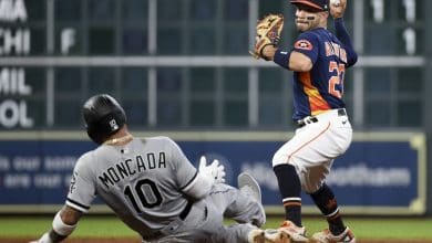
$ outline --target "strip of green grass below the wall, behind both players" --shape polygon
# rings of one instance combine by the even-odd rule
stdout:
[[[278,228],[282,218],[269,218],[264,228]],[[432,219],[416,218],[346,218],[358,239],[429,239]],[[0,237],[38,237],[51,228],[51,216],[0,216]],[[226,223],[230,223],[227,221]],[[309,234],[327,226],[321,218],[306,218]],[[114,216],[83,216],[73,237],[137,237],[136,233]]]

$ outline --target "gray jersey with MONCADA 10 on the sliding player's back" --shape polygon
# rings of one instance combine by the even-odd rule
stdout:
[[[151,235],[178,218],[187,203],[182,189],[196,175],[167,137],[102,145],[78,160],[66,204],[86,212],[97,194],[131,229]]]

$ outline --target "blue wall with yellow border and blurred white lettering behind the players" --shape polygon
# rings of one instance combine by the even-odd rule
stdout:
[[[199,156],[217,158],[236,186],[240,171],[253,173],[263,188],[268,213],[282,213],[277,180],[271,170],[274,152],[292,134],[277,131],[158,131],[140,137],[168,136],[197,165]],[[94,148],[84,133],[25,131],[0,134],[0,213],[54,212],[64,202],[70,175],[79,156]],[[338,158],[328,178],[343,212],[368,215],[429,214],[431,165],[426,137],[421,133],[356,133],[348,151]],[[429,159],[430,160],[430,159]],[[153,161],[145,161],[148,167]],[[429,186],[429,187],[428,187]],[[304,194],[304,212],[317,214]],[[110,210],[96,200],[94,213]]]

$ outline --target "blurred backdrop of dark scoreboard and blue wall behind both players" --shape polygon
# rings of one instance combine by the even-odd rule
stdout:
[[[352,213],[430,215],[432,1],[348,4],[356,135],[329,180]],[[270,161],[295,130],[291,72],[248,54],[257,19],[276,12],[290,46],[288,0],[0,0],[0,212],[63,202],[75,159],[94,148],[80,110],[99,93],[140,135],[171,136],[194,162],[220,158],[230,182],[261,176],[265,204],[280,209]]]

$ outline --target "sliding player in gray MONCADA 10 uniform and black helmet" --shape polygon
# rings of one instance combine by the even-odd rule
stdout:
[[[167,137],[135,138],[126,115],[109,95],[83,106],[89,137],[100,145],[80,157],[65,205],[52,230],[34,243],[61,242],[99,196],[143,242],[281,242],[280,231],[259,229],[266,215],[260,190],[247,173],[239,189],[223,183],[224,167],[202,157],[197,170]],[[224,216],[238,223],[223,224]]]

